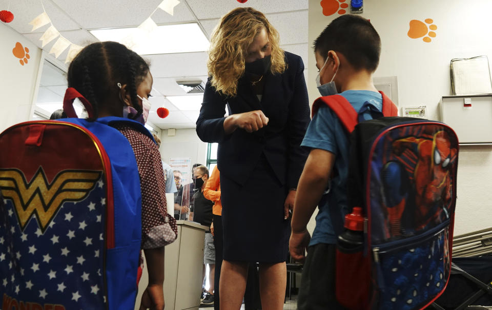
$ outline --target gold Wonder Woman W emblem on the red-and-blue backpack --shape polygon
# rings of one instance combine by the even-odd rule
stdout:
[[[39,167],[28,183],[22,171],[0,169],[0,190],[4,198],[12,200],[21,230],[35,215],[44,232],[60,206],[65,201],[84,200],[101,174],[101,171],[64,170],[49,184],[43,168]]]

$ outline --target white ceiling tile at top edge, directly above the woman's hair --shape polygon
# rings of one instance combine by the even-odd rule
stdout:
[[[308,10],[308,0],[249,0],[246,3],[229,0],[186,0],[198,19],[219,18],[237,7],[253,7],[264,14]]]

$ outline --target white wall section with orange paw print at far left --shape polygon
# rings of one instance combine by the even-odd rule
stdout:
[[[29,49],[30,58],[24,66],[12,53],[17,42]],[[30,119],[41,54],[26,37],[0,23],[0,132]]]

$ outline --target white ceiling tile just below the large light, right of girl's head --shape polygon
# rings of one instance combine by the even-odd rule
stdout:
[[[150,60],[154,78],[207,75],[207,52],[145,55],[144,59]]]

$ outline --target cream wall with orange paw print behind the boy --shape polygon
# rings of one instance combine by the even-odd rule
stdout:
[[[309,3],[309,42],[313,42],[335,13],[324,16],[319,0]],[[400,106],[427,105],[429,118],[439,119],[438,102],[451,95],[452,58],[487,55],[492,60],[492,2],[449,0],[365,0],[363,17],[379,32],[381,60],[375,76],[398,76]],[[407,36],[412,19],[432,18],[436,37],[425,43]],[[312,49],[309,69],[315,69]],[[319,96],[309,70],[311,102]],[[492,120],[491,120],[492,121]],[[492,226],[492,147],[462,147],[458,168],[455,235]]]

